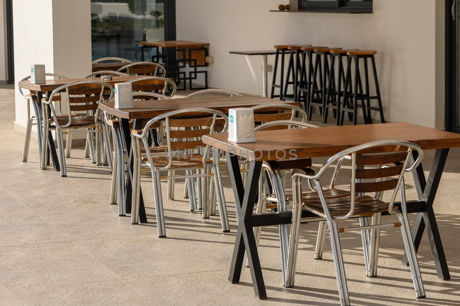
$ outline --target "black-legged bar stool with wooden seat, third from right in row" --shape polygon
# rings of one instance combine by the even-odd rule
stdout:
[[[309,91],[309,102],[308,102],[308,120],[311,120],[311,115],[313,114],[313,107],[319,107],[320,113],[323,114],[324,105],[326,105],[326,90],[328,87],[327,79],[329,76],[329,61],[328,55],[330,56],[330,50],[342,49],[339,47],[336,48],[315,48],[313,51],[316,53],[315,56],[315,66],[313,68],[313,81],[316,81],[316,78],[319,79],[319,87],[315,89],[314,86],[311,87]],[[318,75],[319,74],[319,75]],[[315,98],[316,95],[316,98]]]

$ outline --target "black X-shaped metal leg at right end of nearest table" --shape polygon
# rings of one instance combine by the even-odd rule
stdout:
[[[412,239],[414,240],[415,250],[419,248],[420,240],[426,227],[428,240],[430,241],[431,253],[433,254],[437,275],[443,280],[450,279],[449,267],[447,266],[446,256],[444,255],[443,244],[436,218],[433,211],[433,202],[436,197],[437,187],[443,174],[449,148],[437,149],[433,164],[431,165],[428,179],[425,179],[422,164],[413,172],[417,194],[426,203],[426,212],[419,212],[415,217],[412,226]],[[416,153],[412,159],[416,158]],[[403,264],[408,265],[407,255],[404,253]]]

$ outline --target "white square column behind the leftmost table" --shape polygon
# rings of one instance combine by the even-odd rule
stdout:
[[[27,106],[17,93],[17,82],[30,74],[31,64],[44,64],[47,73],[69,78],[91,72],[90,0],[13,0],[13,31],[14,127],[24,132]]]

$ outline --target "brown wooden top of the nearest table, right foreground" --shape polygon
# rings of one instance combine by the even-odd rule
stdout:
[[[276,158],[276,151],[286,152],[285,158],[332,156],[349,147],[390,139],[414,142],[424,150],[460,147],[460,134],[404,122],[267,130],[256,132],[255,138],[255,142],[233,143],[227,141],[228,134],[217,134],[203,136],[203,142],[259,161],[282,159],[282,153]]]

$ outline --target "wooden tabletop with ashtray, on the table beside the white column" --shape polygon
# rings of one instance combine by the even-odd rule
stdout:
[[[115,83],[123,83],[127,82],[133,79],[138,79],[141,78],[142,75],[128,75],[128,76],[118,76],[118,77],[113,77],[113,79],[109,81],[102,81],[101,78],[83,78],[83,79],[47,79],[45,84],[32,84],[30,81],[20,81],[18,82],[19,87],[28,89],[30,91],[41,91],[41,92],[46,92],[46,91],[53,91],[57,87],[66,85],[69,83],[73,82],[78,82],[78,81],[102,81],[104,83],[110,84],[112,86],[115,86]],[[152,80],[149,81],[151,84]],[[158,80],[158,88],[152,88],[152,90],[161,90],[164,88],[164,81]]]

